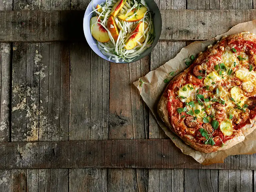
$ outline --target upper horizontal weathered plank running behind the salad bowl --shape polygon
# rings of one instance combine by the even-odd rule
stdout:
[[[83,11],[0,12],[0,42],[85,41],[83,14]],[[256,10],[161,10],[161,15],[160,40],[206,40],[238,23],[253,20]]]

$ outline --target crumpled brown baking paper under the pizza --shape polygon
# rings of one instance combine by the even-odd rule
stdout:
[[[146,76],[141,77],[140,79],[145,82],[145,84],[142,84],[142,86],[140,86],[141,84],[139,80],[133,83],[139,89],[141,97],[152,111],[158,124],[162,127],[165,134],[171,138],[175,145],[180,148],[180,150],[184,154],[192,156],[196,161],[203,165],[209,165],[212,163],[223,163],[224,159],[228,155],[256,153],[256,130],[254,130],[250,135],[247,135],[244,141],[227,150],[212,153],[202,153],[194,150],[190,146],[186,145],[168,127],[166,127],[165,123],[158,116],[157,104],[163,91],[167,86],[167,83],[164,83],[164,79],[168,77],[168,74],[171,71],[175,71],[175,75],[177,75],[185,68],[187,68],[184,59],[188,58],[189,55],[198,55],[199,52],[205,51],[208,45],[215,44],[225,35],[231,35],[246,31],[256,34],[256,20],[246,23],[240,23],[232,27],[228,32],[218,35],[217,37],[210,40],[191,43],[190,45],[182,48],[175,58],[166,62],[164,65],[157,68],[156,70],[149,72]],[[147,85],[146,83],[149,85]]]

